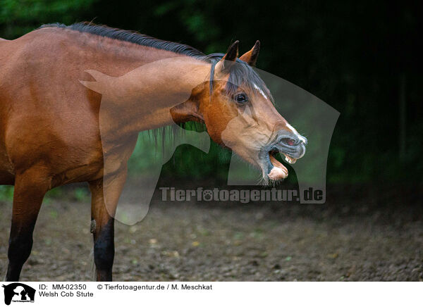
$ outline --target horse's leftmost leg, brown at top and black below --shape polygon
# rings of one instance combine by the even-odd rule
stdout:
[[[49,180],[35,169],[16,175],[13,193],[11,234],[8,246],[8,270],[6,281],[18,281],[23,263],[32,249],[32,232],[49,189]]]

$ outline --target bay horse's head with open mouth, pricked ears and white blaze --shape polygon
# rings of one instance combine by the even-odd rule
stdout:
[[[288,177],[288,163],[305,154],[307,139],[276,111],[274,100],[263,80],[253,70],[260,43],[238,58],[238,41],[226,54],[208,56],[212,70],[208,82],[193,89],[190,99],[171,109],[176,122],[204,123],[210,137],[245,161],[262,170],[264,182]]]

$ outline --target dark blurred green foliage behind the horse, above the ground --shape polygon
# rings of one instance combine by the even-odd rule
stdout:
[[[226,51],[235,39],[245,52],[259,39],[258,68],[341,113],[329,152],[329,183],[422,182],[421,6],[407,1],[0,3],[0,36],[6,39],[42,23],[83,20],[183,42],[206,54]],[[204,163],[213,165],[203,168],[204,175],[221,164],[210,163],[216,151]],[[180,168],[180,174],[189,173]]]

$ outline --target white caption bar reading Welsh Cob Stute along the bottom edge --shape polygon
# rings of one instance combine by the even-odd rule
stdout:
[[[421,282],[1,282],[10,306],[415,306]],[[33,291],[35,290],[35,292]]]

